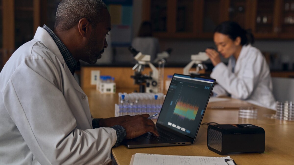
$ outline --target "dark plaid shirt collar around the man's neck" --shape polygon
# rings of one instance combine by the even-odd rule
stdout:
[[[74,75],[76,68],[81,65],[80,62],[74,59],[74,56],[71,54],[71,52],[69,52],[69,49],[66,48],[64,43],[61,42],[61,40],[56,36],[56,34],[48,26],[44,25],[42,28],[44,28],[52,37],[57,47],[59,48],[59,51],[61,55],[63,56],[67,67],[69,67],[71,74]]]

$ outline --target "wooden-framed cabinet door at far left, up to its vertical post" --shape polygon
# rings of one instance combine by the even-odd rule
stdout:
[[[30,41],[40,23],[40,0],[2,0],[1,68],[12,53]]]

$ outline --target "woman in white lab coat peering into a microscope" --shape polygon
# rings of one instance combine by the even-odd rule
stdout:
[[[213,88],[214,95],[231,95],[275,109],[270,69],[260,50],[251,46],[252,33],[226,21],[216,27],[213,40],[217,51],[210,48],[205,51],[214,66],[210,76],[218,83]],[[221,62],[220,55],[229,58],[228,65]]]

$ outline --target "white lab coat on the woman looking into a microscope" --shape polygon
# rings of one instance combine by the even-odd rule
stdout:
[[[232,98],[275,110],[270,69],[257,48],[251,45],[242,47],[234,73],[229,59],[228,66],[219,63],[210,76],[218,83],[213,88],[217,95],[231,94]]]

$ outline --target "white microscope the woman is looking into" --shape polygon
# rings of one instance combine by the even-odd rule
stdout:
[[[205,52],[199,52],[196,55],[191,55],[191,62],[188,63],[188,65],[185,66],[183,70],[184,75],[201,75],[199,73],[199,70],[207,69],[206,65],[203,63],[204,61],[208,60],[209,57]],[[196,64],[196,71],[189,72],[189,70],[193,67],[193,65]]]

